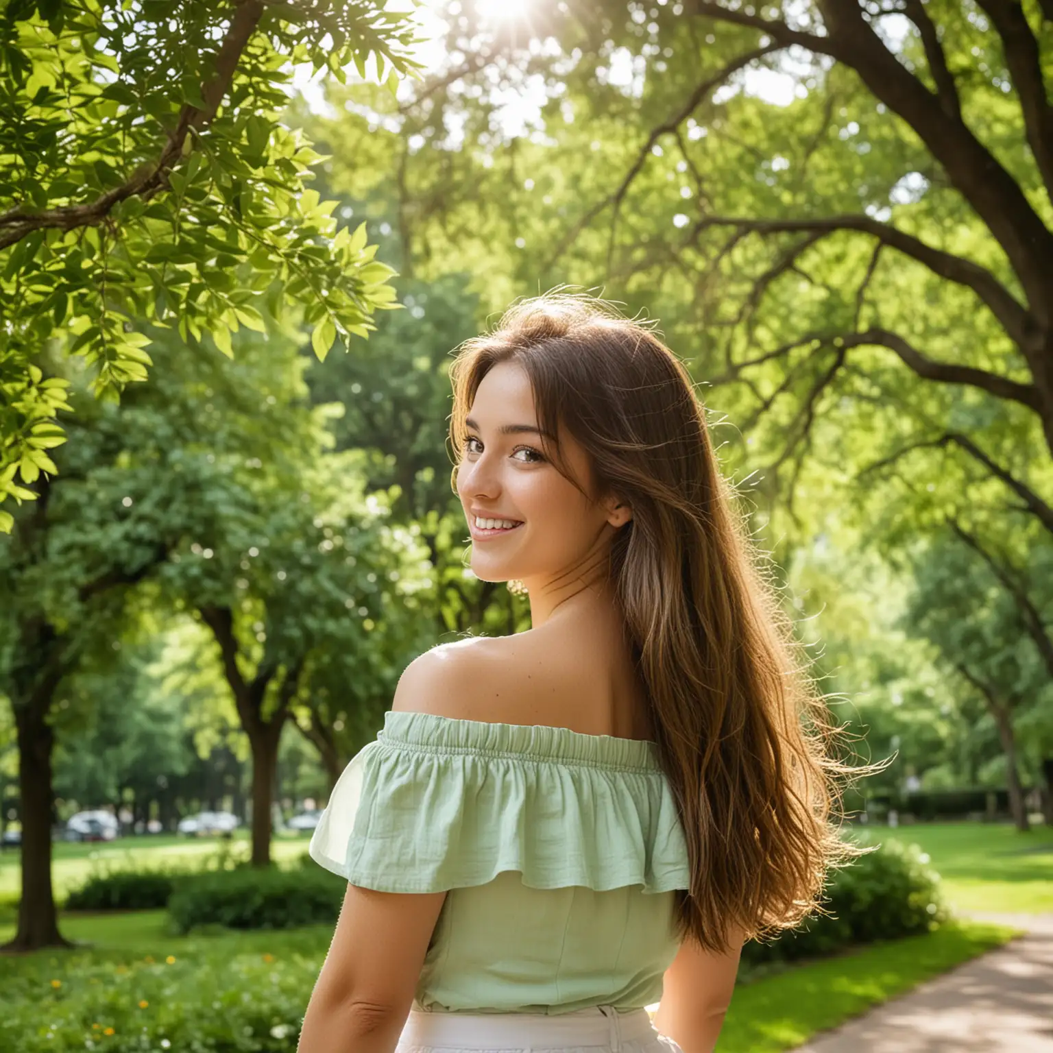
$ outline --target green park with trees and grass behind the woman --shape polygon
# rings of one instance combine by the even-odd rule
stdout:
[[[464,567],[451,351],[564,284],[657,319],[890,759],[720,1049],[1053,910],[1051,21],[0,4],[0,1048],[295,1050],[342,890],[286,820],[415,655],[529,623]]]

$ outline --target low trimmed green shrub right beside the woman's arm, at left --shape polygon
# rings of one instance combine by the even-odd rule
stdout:
[[[207,925],[291,929],[335,922],[345,891],[345,881],[317,867],[238,869],[181,882],[168,899],[168,914],[179,933]]]

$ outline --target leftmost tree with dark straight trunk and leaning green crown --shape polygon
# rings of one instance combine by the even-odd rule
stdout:
[[[120,406],[90,404],[79,441],[59,451],[62,475],[35,482],[38,500],[16,514],[0,548],[0,692],[14,710],[23,822],[13,950],[66,943],[51,883],[56,692],[85,654],[110,647],[134,588],[238,499],[212,451],[244,462],[286,438],[259,399],[285,382],[287,361],[261,344],[231,363],[164,336],[164,375]]]

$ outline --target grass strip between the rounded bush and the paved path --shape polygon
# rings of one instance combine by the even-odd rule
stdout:
[[[780,1053],[1011,939],[962,922],[788,969],[735,989],[718,1053]]]

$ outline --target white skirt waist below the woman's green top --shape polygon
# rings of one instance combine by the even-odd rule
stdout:
[[[683,1053],[645,1009],[593,1006],[571,1013],[435,1013],[411,1010],[395,1053]]]

